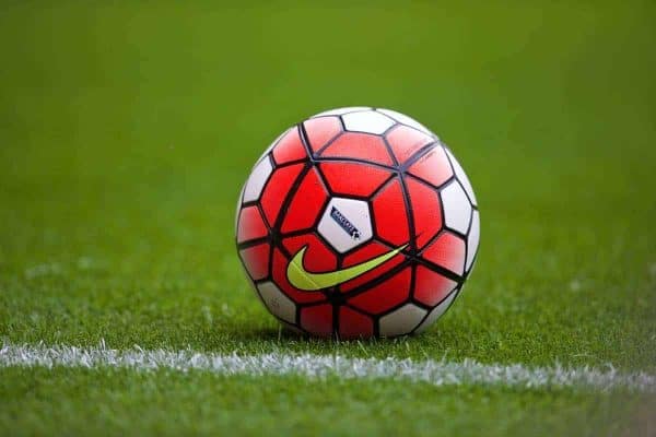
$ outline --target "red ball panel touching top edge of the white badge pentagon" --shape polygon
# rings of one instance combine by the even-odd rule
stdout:
[[[358,163],[320,163],[319,169],[330,189],[338,194],[371,196],[391,172]]]

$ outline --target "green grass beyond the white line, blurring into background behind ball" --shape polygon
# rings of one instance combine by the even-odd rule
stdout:
[[[288,126],[371,105],[433,129],[480,199],[480,261],[457,324],[425,342],[487,361],[535,349],[523,358],[585,362],[583,347],[594,364],[653,366],[653,4],[5,1],[0,11],[10,339],[261,340],[277,324],[233,249],[239,187]]]

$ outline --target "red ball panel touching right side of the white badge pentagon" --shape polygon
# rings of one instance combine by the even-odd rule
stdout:
[[[395,246],[409,241],[408,215],[401,185],[398,179],[389,182],[374,199],[376,234]]]

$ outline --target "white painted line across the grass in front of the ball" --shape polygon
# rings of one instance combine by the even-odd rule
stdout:
[[[420,381],[435,386],[484,385],[656,392],[655,375],[643,371],[622,373],[610,366],[602,370],[590,367],[481,364],[471,359],[458,363],[283,353],[224,355],[191,350],[145,351],[139,346],[116,351],[105,347],[104,343],[98,347],[4,344],[0,350],[0,367],[11,366],[201,370],[220,375],[301,375],[309,378],[336,376],[344,379]]]

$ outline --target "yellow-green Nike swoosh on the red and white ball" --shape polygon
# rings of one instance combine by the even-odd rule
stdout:
[[[364,261],[360,264],[351,265],[347,269],[336,270],[332,272],[313,273],[308,272],[303,267],[303,257],[305,255],[305,250],[307,250],[307,246],[304,246],[296,252],[296,255],[294,255],[294,258],[292,258],[288,264],[288,281],[290,281],[290,284],[296,288],[304,290],[306,292],[315,292],[317,290],[336,286],[358,277],[361,274],[377,268],[384,262],[387,262],[406,247],[408,247],[408,245],[397,247],[396,249],[379,255],[376,258],[372,258],[371,260]]]

